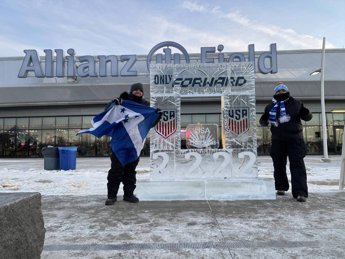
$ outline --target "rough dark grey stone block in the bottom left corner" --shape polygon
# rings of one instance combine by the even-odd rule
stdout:
[[[39,192],[0,193],[1,258],[40,258],[45,233]]]

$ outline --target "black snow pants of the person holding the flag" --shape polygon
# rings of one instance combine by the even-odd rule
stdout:
[[[114,152],[111,152],[111,169],[108,171],[108,198],[115,198],[120,187],[120,183],[124,184],[124,192],[126,195],[132,195],[136,188],[136,167],[139,163],[137,160],[122,166],[121,162],[117,159]]]

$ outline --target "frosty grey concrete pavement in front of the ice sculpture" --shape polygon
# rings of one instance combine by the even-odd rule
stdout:
[[[44,249],[41,258],[344,258],[344,199],[344,191],[310,193],[302,203],[291,194],[276,200],[134,204],[119,196],[105,206],[103,195],[43,196],[46,248],[158,243],[160,249],[65,246]],[[233,242],[233,248],[202,248],[200,242]],[[187,248],[164,249],[169,243]]]

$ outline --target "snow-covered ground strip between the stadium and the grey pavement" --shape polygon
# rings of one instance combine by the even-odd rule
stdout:
[[[332,163],[318,163],[321,156],[306,156],[309,192],[339,190],[341,156],[334,155]],[[141,157],[137,180],[150,176],[150,159]],[[1,159],[0,192],[40,192],[42,195],[107,194],[109,157],[78,158],[77,170],[46,171],[43,159]],[[273,163],[269,156],[258,157],[258,176],[273,180]],[[287,165],[288,179],[291,180]],[[290,190],[289,190],[290,192]],[[123,193],[120,186],[119,195]]]

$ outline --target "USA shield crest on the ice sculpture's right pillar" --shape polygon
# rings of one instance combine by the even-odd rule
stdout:
[[[249,108],[224,108],[225,132],[239,137],[249,130]]]

